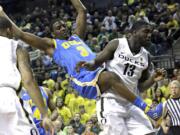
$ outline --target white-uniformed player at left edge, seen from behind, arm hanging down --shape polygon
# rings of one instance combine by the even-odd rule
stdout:
[[[26,61],[27,53],[18,42],[12,40],[12,25],[0,17],[0,134],[1,135],[38,135],[38,132],[25,111],[17,93],[23,86],[43,114],[42,124],[53,134],[53,125],[48,118],[40,90]]]

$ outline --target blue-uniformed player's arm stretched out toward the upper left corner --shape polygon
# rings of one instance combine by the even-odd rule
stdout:
[[[28,32],[23,32],[18,26],[6,15],[6,13],[3,11],[3,8],[0,6],[0,16],[4,16],[7,18],[13,28],[13,34],[15,37],[20,38],[27,44],[31,45],[32,47],[38,48],[40,50],[45,51],[47,54],[51,55],[51,49],[54,48],[54,43],[50,38],[40,38],[36,35],[33,35]]]

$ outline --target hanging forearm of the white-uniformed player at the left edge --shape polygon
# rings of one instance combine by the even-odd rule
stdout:
[[[42,94],[40,92],[40,89],[36,83],[35,80],[27,80],[23,83],[25,89],[27,90],[28,94],[30,95],[33,103],[38,107],[40,110],[40,113],[43,117],[48,116],[48,108],[44,104],[44,100],[42,97]]]

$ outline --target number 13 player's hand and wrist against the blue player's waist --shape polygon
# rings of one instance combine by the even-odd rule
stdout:
[[[80,68],[86,68],[89,71],[95,70],[97,67],[94,63],[94,61],[86,62],[86,61],[80,61],[76,65],[76,71],[79,72]]]

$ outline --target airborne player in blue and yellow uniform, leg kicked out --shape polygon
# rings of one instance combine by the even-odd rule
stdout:
[[[81,38],[83,38],[84,36],[86,28],[86,8],[83,6],[80,0],[71,0],[71,2],[77,10],[78,15],[76,19],[77,27],[74,31],[74,34],[69,38],[67,28],[63,21],[56,21],[55,23],[53,23],[52,34],[54,35],[54,39],[40,38],[33,34],[23,32],[15,24],[13,25],[14,34],[31,46],[44,50],[47,54],[52,56],[56,64],[65,67],[71,77],[71,85],[75,90],[78,91],[81,96],[95,99],[100,96],[100,93],[103,93],[112,88],[113,91],[116,91],[119,95],[126,98],[137,107],[141,108],[149,117],[154,120],[158,119],[162,115],[162,104],[158,105],[155,109],[151,109],[141,98],[135,96],[134,93],[129,91],[122,80],[119,78],[119,76],[114,72],[103,71],[102,68],[97,68],[94,71],[88,71],[85,68],[81,68],[79,73],[76,72],[75,67],[78,62],[91,61],[96,58],[96,54],[93,53],[81,40]],[[6,16],[3,11],[1,11],[0,14]],[[147,32],[145,34],[147,35]],[[115,43],[118,44],[117,41],[110,42],[112,46],[114,46],[113,44]],[[109,51],[112,53],[113,49],[114,48],[112,47],[112,50]],[[100,57],[102,56],[104,60],[107,58],[107,56],[104,57],[104,53],[100,55]],[[147,58],[143,58],[143,62],[145,62],[145,60],[147,60]],[[139,66],[143,66],[141,68],[141,71],[148,67],[146,63],[140,63],[140,61],[136,62],[138,62]],[[102,61],[100,61],[99,63],[102,64]],[[127,70],[125,74],[133,76],[135,67],[132,67],[131,65],[129,66],[130,72],[132,72],[129,73],[129,71]],[[136,74],[138,74],[138,71],[136,71]],[[158,70],[146,84],[151,85],[155,81],[156,77],[162,78],[163,75],[164,71]],[[136,78],[139,79],[140,76],[141,73],[139,73]]]

